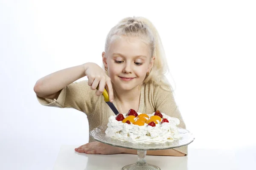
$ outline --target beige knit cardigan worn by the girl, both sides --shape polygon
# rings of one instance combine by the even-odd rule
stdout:
[[[99,125],[107,125],[108,118],[114,115],[113,111],[104,102],[103,96],[96,96],[95,91],[90,89],[87,80],[73,82],[61,90],[58,99],[46,99],[37,96],[41,105],[58,108],[74,108],[84,112],[89,122],[89,130]],[[116,102],[113,102],[116,106]],[[179,109],[175,103],[172,92],[163,90],[160,85],[148,82],[142,85],[140,94],[139,113],[153,113],[156,110],[169,116],[180,119],[180,125],[186,129]],[[89,136],[89,142],[94,139]],[[182,153],[188,154],[187,146],[174,148]]]

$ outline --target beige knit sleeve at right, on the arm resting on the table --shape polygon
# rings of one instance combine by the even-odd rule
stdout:
[[[179,119],[180,124],[177,125],[177,127],[186,129],[186,125],[183,121],[183,118],[180,114],[180,111],[176,105],[175,99],[171,91],[165,91],[159,87],[157,89],[154,101],[156,101],[156,105],[155,105],[156,110],[159,110],[160,112],[163,112],[168,116]],[[187,145],[182,147],[176,147],[174,149],[186,155],[188,154]]]

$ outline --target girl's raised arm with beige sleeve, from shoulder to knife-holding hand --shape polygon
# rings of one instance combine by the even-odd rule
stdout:
[[[74,82],[84,76],[88,77],[88,81]],[[99,90],[93,91],[98,85]],[[88,62],[39,79],[35,84],[34,91],[41,105],[75,108],[88,114],[92,112],[92,103],[96,103],[98,96],[101,96],[104,91],[105,85],[109,90],[109,98],[113,99],[113,89],[108,75],[99,65]]]

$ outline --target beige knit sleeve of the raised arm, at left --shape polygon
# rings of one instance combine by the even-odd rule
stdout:
[[[58,99],[47,99],[37,96],[38,102],[44,106],[57,108],[74,108],[84,113],[93,112],[93,103],[98,96],[90,89],[87,81],[73,82],[61,90]]]

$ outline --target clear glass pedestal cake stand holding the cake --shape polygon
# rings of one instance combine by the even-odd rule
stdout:
[[[90,136],[96,141],[109,144],[116,147],[124,147],[128,149],[137,150],[138,160],[135,164],[128,164],[122,167],[122,170],[160,170],[155,165],[148,164],[145,160],[147,150],[160,150],[160,149],[171,149],[175,147],[181,147],[190,144],[195,139],[188,130],[178,127],[178,131],[181,135],[179,140],[173,142],[165,142],[163,144],[134,144],[131,142],[123,142],[118,139],[113,139],[106,136],[105,130],[107,125],[101,125],[90,131]]]

